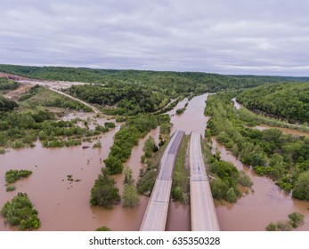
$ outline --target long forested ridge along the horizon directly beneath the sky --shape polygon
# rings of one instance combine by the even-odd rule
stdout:
[[[248,88],[273,82],[259,77],[223,76],[199,72],[159,72],[93,68],[29,67],[0,65],[0,72],[39,79],[89,83],[147,85],[153,91],[172,88],[175,92],[217,92],[226,88]],[[278,80],[275,80],[278,82]]]

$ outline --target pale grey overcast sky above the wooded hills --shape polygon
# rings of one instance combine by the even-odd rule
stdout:
[[[0,63],[309,76],[309,1],[0,0]]]

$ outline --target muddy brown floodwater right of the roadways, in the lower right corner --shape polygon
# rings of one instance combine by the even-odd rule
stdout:
[[[264,230],[270,222],[287,220],[289,213],[293,212],[305,215],[305,224],[298,230],[309,230],[309,202],[291,198],[272,180],[259,177],[248,167],[244,167],[240,160],[215,140],[213,144],[220,151],[223,160],[232,162],[239,170],[245,170],[254,182],[254,193],[242,197],[236,205],[216,204],[222,230]]]

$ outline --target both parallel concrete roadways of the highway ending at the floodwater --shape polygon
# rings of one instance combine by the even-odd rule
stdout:
[[[182,139],[183,132],[176,131],[161,158],[159,175],[142,220],[141,231],[164,231],[166,228],[175,159]],[[220,230],[198,133],[191,133],[190,189],[192,231]]]

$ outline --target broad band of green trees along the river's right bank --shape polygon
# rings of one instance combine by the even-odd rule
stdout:
[[[221,92],[209,96],[206,114],[207,137],[232,151],[244,165],[266,175],[293,197],[309,200],[309,139],[292,136],[277,129],[259,131],[248,127],[244,113],[232,106],[236,92]]]

